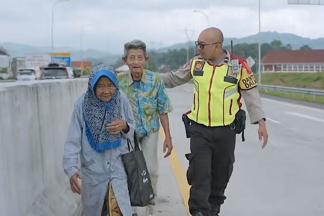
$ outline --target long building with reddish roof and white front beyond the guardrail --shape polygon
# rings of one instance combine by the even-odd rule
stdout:
[[[262,58],[263,72],[322,72],[324,49],[269,51]]]

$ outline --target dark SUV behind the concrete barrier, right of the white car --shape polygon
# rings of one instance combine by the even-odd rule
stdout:
[[[47,67],[41,68],[41,80],[72,78],[74,78],[74,73],[71,67],[65,67],[64,65],[57,63],[50,63]]]

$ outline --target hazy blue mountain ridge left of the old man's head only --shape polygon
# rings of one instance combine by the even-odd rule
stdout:
[[[12,57],[24,57],[25,53],[50,53],[51,47],[38,47],[30,46],[18,43],[0,43],[0,47],[3,47]],[[72,55],[72,61],[79,61],[81,59],[80,49],[72,47],[55,47],[54,52],[70,52]],[[118,59],[119,55],[114,55],[100,50],[87,49],[82,52],[83,60],[92,61],[95,63],[108,63],[113,64]]]

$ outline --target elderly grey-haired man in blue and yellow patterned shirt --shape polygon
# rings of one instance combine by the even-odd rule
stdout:
[[[155,72],[145,70],[149,61],[146,44],[133,40],[125,44],[123,61],[129,71],[119,76],[120,88],[128,97],[136,121],[136,135],[140,142],[154,193],[158,183],[158,142],[160,122],[164,130],[164,158],[172,151],[171,134],[167,113],[172,111],[171,103],[165,92],[164,83]],[[167,151],[166,151],[167,150]],[[147,215],[154,214],[154,202],[147,207]]]

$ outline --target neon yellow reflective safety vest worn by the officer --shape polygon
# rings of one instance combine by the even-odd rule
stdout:
[[[188,117],[206,126],[231,124],[239,110],[241,73],[234,74],[231,66],[210,65],[200,58],[193,59],[190,73],[194,80],[194,96]]]

